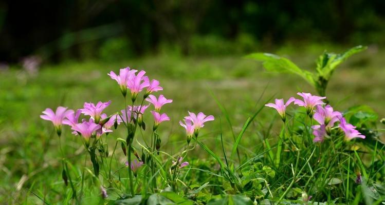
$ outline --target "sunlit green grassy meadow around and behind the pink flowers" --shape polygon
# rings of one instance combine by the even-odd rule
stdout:
[[[316,67],[315,60],[325,49],[342,52],[346,48],[287,46],[270,52],[310,70]],[[385,50],[369,46],[352,56],[334,72],[326,90],[329,104],[340,112],[349,113],[354,111],[349,108],[365,105],[357,112],[363,113],[362,119],[368,121],[359,123],[370,125],[365,128],[376,136],[349,142],[336,137],[325,146],[300,139],[301,136],[313,138],[306,123],[315,124],[306,121],[304,110],[293,105],[288,108],[291,128],[286,130],[278,113],[264,106],[275,98],[300,98],[297,92],[318,95],[317,91],[298,76],[267,72],[260,62],[244,55],[186,57],[161,53],[118,62],[66,61],[44,65],[37,72],[17,67],[1,70],[0,201],[4,204],[380,204],[385,193],[381,143],[384,125],[380,123],[385,116],[384,55]],[[58,138],[53,126],[40,118],[46,108],[64,106],[76,110],[84,102],[111,100],[105,112],[120,111],[125,105],[119,85],[107,73],[118,73],[127,66],[145,70],[151,79],[160,81],[163,91],[154,95],[173,99],[162,108],[170,121],[162,122],[157,131],[162,153],[148,152],[155,167],[163,171],[149,178],[154,175],[149,171],[151,166],[140,168],[134,197],[133,190],[127,188],[130,187],[129,169],[124,165],[127,157],[120,146],[122,141],[117,141],[127,137],[122,124],[102,136],[108,146],[106,159],[113,160],[109,165],[104,161],[97,176],[81,137],[71,135],[70,128],[63,127]],[[197,139],[193,137],[191,150],[186,148],[186,131],[178,123],[188,115],[187,111],[215,117],[200,129]],[[305,122],[297,125],[294,119]],[[139,158],[143,147],[138,143],[144,144],[152,135],[151,114],[144,115],[143,120],[147,129],[138,131],[135,135],[138,142],[133,142]],[[239,136],[242,138],[235,142]],[[335,149],[327,149],[326,145]],[[186,149],[189,151],[184,152]],[[180,153],[186,154],[189,166],[175,168],[179,166],[176,163],[171,168]],[[62,179],[63,167],[67,186]],[[361,181],[356,183],[358,178]],[[156,181],[157,188],[151,185],[151,180]],[[100,186],[108,197],[102,196]]]

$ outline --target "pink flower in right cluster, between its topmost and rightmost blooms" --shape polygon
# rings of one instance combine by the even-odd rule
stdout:
[[[325,108],[318,105],[313,116],[319,124],[325,124],[326,128],[332,128],[340,117],[342,117],[342,114],[338,111],[333,111],[333,108],[330,105],[325,106]]]

